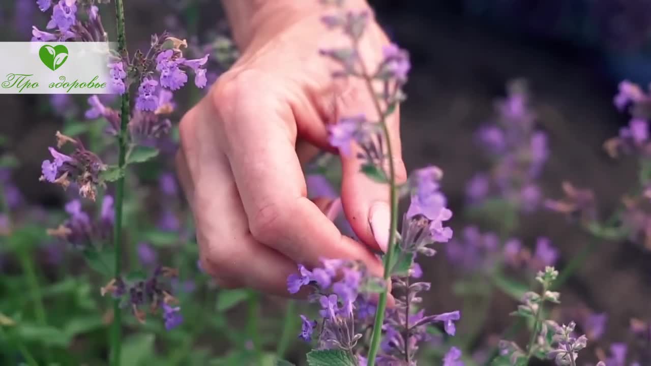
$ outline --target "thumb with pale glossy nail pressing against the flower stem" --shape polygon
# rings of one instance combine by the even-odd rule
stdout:
[[[368,116],[378,115],[374,109],[366,109]],[[400,144],[399,115],[396,110],[386,121],[389,129],[389,143],[382,141],[378,144],[374,137],[375,149],[380,150],[385,158],[383,169],[389,173],[389,157],[387,148],[391,147],[396,184],[406,181],[407,174],[402,162]],[[370,179],[362,173],[361,167],[365,160],[358,154],[367,147],[352,147],[349,154],[341,152],[342,160],[342,205],[344,214],[359,239],[373,249],[387,251],[389,244],[389,227],[391,225],[391,204],[389,203],[389,184]]]

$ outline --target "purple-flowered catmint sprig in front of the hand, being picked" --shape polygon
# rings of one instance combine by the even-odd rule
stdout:
[[[322,267],[312,270],[299,266],[299,273],[288,278],[290,293],[311,287],[309,298],[322,308],[318,321],[301,316],[303,326],[299,337],[309,341],[314,330],[320,328],[316,350],[308,354],[308,362],[314,365],[326,359],[331,365],[416,365],[419,343],[431,338],[427,328],[437,324],[448,335],[454,335],[454,322],[460,319],[459,311],[439,315],[417,311],[417,304],[422,301],[418,294],[429,290],[430,284],[411,280],[422,275],[413,262],[415,257],[434,255],[436,251],[430,245],[448,242],[452,237],[452,229],[445,226],[452,212],[446,208],[447,200],[439,191],[443,172],[438,167],[427,167],[411,175],[406,186],[411,205],[404,214],[402,232],[398,235],[398,185],[386,119],[404,100],[402,86],[410,68],[408,53],[391,44],[383,49],[384,59],[380,64],[369,68],[358,49],[369,14],[344,12],[342,1],[322,3],[335,5],[338,10],[322,18],[326,27],[342,31],[350,39],[351,46],[324,49],[321,54],[339,64],[340,70],[333,77],[357,78],[365,82],[377,112],[376,116],[342,117],[337,124],[329,126],[330,143],[342,154],[349,155],[355,143],[360,150],[357,158],[362,162],[363,173],[389,184],[391,231],[383,278],[374,278],[359,270],[357,265],[338,259],[323,260]],[[380,83],[381,89],[376,89],[374,83]],[[393,309],[386,308],[388,281],[396,292]],[[380,293],[377,303],[371,301],[374,292]],[[362,342],[368,346],[360,345]],[[458,349],[450,352],[446,365],[458,364]]]

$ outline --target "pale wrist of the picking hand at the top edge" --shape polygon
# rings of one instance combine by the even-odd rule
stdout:
[[[318,0],[222,0],[233,38],[244,51],[254,38],[273,36],[303,18],[324,14]],[[346,0],[353,10],[368,8],[367,0]]]

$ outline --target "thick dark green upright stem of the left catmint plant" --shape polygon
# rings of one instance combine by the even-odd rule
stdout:
[[[118,53],[121,57],[128,57],[126,51],[126,32],[124,30],[124,4],[123,0],[115,0],[115,14],[118,33]],[[129,122],[129,90],[122,94],[122,107],[120,110],[120,131],[118,133],[118,166],[124,170],[127,148],[127,124]],[[124,171],[126,175],[126,171]],[[113,231],[113,246],[115,249],[115,277],[120,277],[122,269],[122,203],[124,201],[124,175],[122,175],[115,186],[115,223]],[[120,353],[122,347],[122,313],[120,301],[113,302],[113,329],[111,341],[113,345],[113,365],[120,365]]]

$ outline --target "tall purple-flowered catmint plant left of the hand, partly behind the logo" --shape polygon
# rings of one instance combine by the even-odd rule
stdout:
[[[98,5],[108,2],[38,0],[41,11],[51,11],[51,19],[46,25],[48,31],[33,27],[32,40],[107,42],[109,36],[104,31]],[[117,143],[117,164],[105,163],[97,154],[85,148],[81,140],[57,132],[57,148],[68,145],[73,150],[66,154],[63,150],[50,147],[49,153],[52,157],[42,163],[41,180],[59,184],[64,189],[76,186],[81,197],[92,201],[98,196],[98,189],[104,188],[109,182],[115,182],[115,199],[104,195],[100,218],[92,221],[90,216],[81,210],[81,203],[72,201],[66,206],[70,219],[49,233],[83,249],[89,263],[94,263],[94,268],[100,268],[100,272],[113,276],[107,285],[102,287],[101,292],[102,296],[111,294],[115,299],[111,359],[113,364],[118,365],[122,308],[130,309],[140,322],[145,322],[145,307],[148,307],[151,313],[159,313],[162,310],[167,329],[172,329],[182,322],[180,307],[171,294],[170,286],[161,286],[162,279],[176,277],[176,270],[157,266],[149,277],[141,274],[122,274],[124,180],[128,165],[146,162],[158,154],[156,139],[171,130],[169,115],[175,107],[173,92],[188,83],[189,74],[193,75],[193,82],[197,87],[206,87],[204,66],[209,55],[197,59],[186,58],[186,40],[174,38],[167,33],[153,35],[150,48],[146,52],[129,53],[126,49],[123,1],[115,0],[115,8],[118,49],[111,55],[107,67],[111,76],[109,87],[121,96],[120,106],[113,109],[99,96],[90,96],[85,117],[107,121],[107,133],[113,135]],[[132,86],[137,87],[135,94],[130,92]],[[133,100],[132,95],[135,95]],[[130,106],[134,108],[131,109]],[[104,258],[102,255],[96,254],[103,249],[103,246],[96,242],[111,239],[113,247],[110,253],[113,260],[112,263],[106,263],[101,260]],[[109,270],[113,273],[109,274]]]

